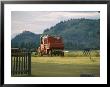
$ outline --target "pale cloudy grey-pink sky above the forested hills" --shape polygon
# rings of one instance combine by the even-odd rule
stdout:
[[[11,38],[23,31],[31,31],[41,34],[60,21],[69,19],[100,19],[100,13],[96,11],[12,11],[11,12]]]

